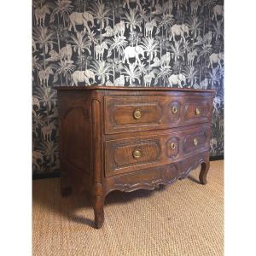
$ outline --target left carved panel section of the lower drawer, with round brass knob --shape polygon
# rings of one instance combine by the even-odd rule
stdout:
[[[160,138],[110,141],[105,147],[106,176],[131,172],[160,160]]]

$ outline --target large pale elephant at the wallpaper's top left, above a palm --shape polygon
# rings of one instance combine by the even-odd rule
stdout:
[[[93,16],[89,12],[84,12],[84,13],[73,12],[71,15],[69,15],[69,20],[70,20],[70,26],[68,27],[69,31],[71,31],[73,26],[73,30],[75,32],[78,32],[76,29],[76,25],[84,25],[87,31],[90,32],[88,21],[90,21],[91,26],[94,26]]]

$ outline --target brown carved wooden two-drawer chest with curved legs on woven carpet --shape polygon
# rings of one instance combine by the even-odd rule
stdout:
[[[56,87],[61,193],[86,190],[96,228],[118,189],[154,189],[201,165],[207,183],[213,90]]]

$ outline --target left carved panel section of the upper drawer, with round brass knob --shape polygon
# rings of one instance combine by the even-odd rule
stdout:
[[[160,97],[106,96],[105,132],[148,130],[163,121]]]

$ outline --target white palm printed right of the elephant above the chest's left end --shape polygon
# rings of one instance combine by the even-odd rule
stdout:
[[[109,64],[107,61],[95,60],[91,63],[91,70],[101,81],[101,84],[105,84],[111,75],[111,64]]]

